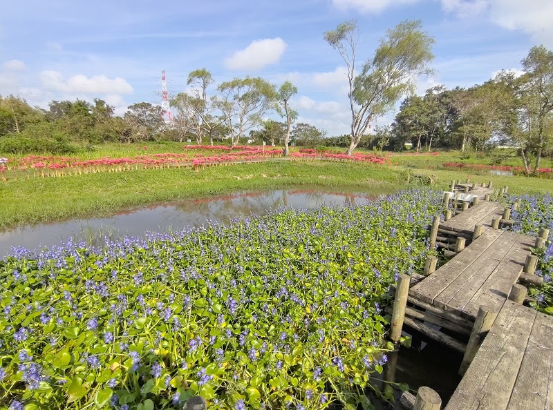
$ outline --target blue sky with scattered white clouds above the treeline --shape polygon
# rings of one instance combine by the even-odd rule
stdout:
[[[351,19],[358,64],[389,28],[422,22],[435,38],[435,74],[416,79],[421,95],[520,70],[532,46],[553,49],[553,0],[10,1],[0,14],[0,95],[43,108],[97,97],[121,115],[140,101],[160,104],[161,70],[176,95],[191,70],[207,68],[216,84],[246,75],[292,81],[298,121],[340,135],[350,122],[347,79],[323,33]]]

